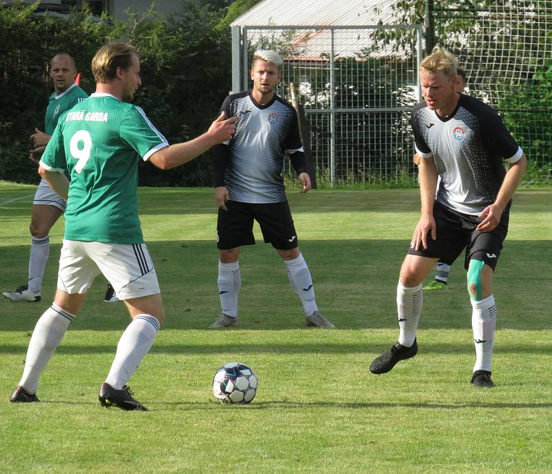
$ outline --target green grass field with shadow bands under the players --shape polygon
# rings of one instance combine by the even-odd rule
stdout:
[[[0,289],[26,281],[33,186],[0,183]],[[139,190],[144,235],[167,320],[130,386],[148,413],[97,401],[128,324],[102,302],[99,277],[41,379],[40,404],[10,404],[30,333],[55,292],[63,219],[38,304],[0,300],[0,473],[552,472],[552,190],[521,190],[495,275],[493,380],[469,384],[475,351],[462,263],[426,293],[420,353],[368,371],[397,340],[395,290],[419,215],[417,190],[288,193],[320,310],[309,329],[284,265],[242,250],[240,326],[208,330],[219,310],[212,190]],[[248,406],[210,393],[242,361],[259,391]]]

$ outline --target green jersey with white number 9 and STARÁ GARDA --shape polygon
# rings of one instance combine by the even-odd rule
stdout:
[[[92,94],[59,119],[40,164],[70,173],[68,240],[141,244],[138,162],[168,146],[141,108]]]

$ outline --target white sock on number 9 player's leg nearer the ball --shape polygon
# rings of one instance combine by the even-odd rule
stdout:
[[[127,326],[117,344],[117,353],[111,364],[106,383],[121,390],[135,373],[149,352],[159,331],[159,319],[150,315],[137,315]]]

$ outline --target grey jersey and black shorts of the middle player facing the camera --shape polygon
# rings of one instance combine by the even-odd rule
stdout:
[[[286,153],[298,175],[305,171],[295,109],[277,95],[261,105],[246,91],[226,97],[221,111],[241,119],[233,139],[213,149],[215,187],[226,186],[229,196],[228,211],[219,210],[218,248],[255,244],[253,219],[265,242],[297,247],[282,177]]]

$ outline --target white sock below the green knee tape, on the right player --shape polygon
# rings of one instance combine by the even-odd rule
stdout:
[[[491,357],[495,342],[496,306],[493,295],[480,301],[471,300],[471,327],[475,341],[473,371],[491,372]]]

